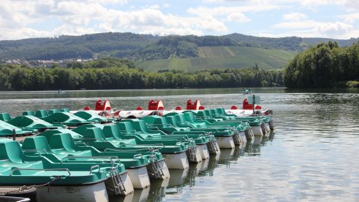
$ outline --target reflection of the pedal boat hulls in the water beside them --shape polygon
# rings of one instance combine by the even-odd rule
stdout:
[[[273,137],[274,133],[271,133],[267,138],[257,138],[257,141],[249,141],[246,145],[237,145],[233,149],[222,149],[220,154],[211,155],[209,159],[200,163],[191,163],[185,170],[169,170],[171,177],[166,182],[151,181],[148,201],[163,201],[166,199],[166,195],[184,194],[184,189],[196,186],[197,183],[204,183],[206,178],[215,176],[217,168],[221,166],[231,168],[231,163],[240,163],[242,156],[260,155],[260,148],[265,146],[267,141],[273,141]],[[133,197],[133,200],[137,201],[137,199]]]

